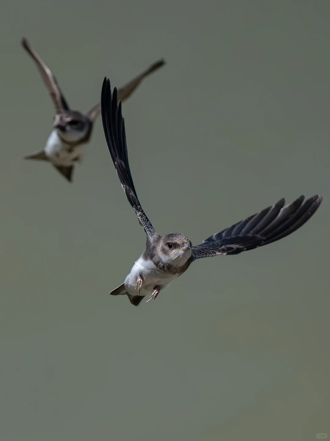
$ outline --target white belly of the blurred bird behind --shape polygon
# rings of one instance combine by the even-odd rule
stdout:
[[[44,152],[53,164],[70,167],[77,162],[77,158],[81,158],[84,144],[75,146],[72,151],[68,151],[69,147],[68,144],[62,142],[57,131],[53,130],[47,139]]]

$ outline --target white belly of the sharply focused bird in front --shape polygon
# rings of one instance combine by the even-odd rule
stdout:
[[[140,295],[147,295],[154,291],[155,286],[159,286],[164,289],[170,284],[177,275],[164,273],[151,261],[145,261],[142,257],[135,262],[131,272],[125,279],[125,289],[132,295],[138,295],[138,291],[135,289],[136,280],[139,275],[143,278],[142,289]]]

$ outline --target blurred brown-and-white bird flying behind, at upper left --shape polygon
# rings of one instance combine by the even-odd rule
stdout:
[[[68,181],[72,181],[74,164],[81,162],[82,150],[84,144],[89,142],[93,122],[99,115],[100,104],[95,105],[91,110],[84,114],[77,110],[70,110],[69,105],[63,96],[55,76],[41,60],[26,38],[22,39],[22,46],[37,64],[41,78],[44,81],[48,92],[55,105],[54,130],[49,135],[46,146],[43,150],[32,155],[26,156],[26,159],[37,159],[49,161]],[[165,64],[164,60],[159,60],[152,64],[148,69],[128,82],[118,90],[118,100],[124,101],[139,86],[143,78],[159,69]]]

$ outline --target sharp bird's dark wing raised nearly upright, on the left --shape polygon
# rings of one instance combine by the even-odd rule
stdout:
[[[114,93],[111,95],[110,81],[106,78],[104,78],[101,92],[101,114],[106,144],[126,198],[134,208],[147,235],[150,238],[157,236],[136,195],[128,164],[125,123],[121,114],[121,102],[117,103],[116,88],[114,88]]]

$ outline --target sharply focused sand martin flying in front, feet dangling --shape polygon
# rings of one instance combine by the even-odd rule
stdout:
[[[286,200],[283,198],[273,206],[213,234],[200,245],[191,245],[189,238],[182,233],[160,236],[144,213],[134,188],[128,164],[121,102],[118,105],[117,98],[116,88],[111,95],[110,81],[105,78],[101,114],[106,144],[126,198],[147,234],[147,245],[125,282],[110,294],[126,294],[135,306],[148,294],[151,295],[147,302],[154,300],[162,289],[183,274],[195,260],[221,254],[239,254],[275,242],[301,227],[319,208],[323,198],[318,194],[305,202],[304,196],[300,196],[288,205],[285,205]]]

